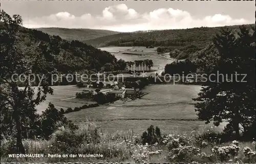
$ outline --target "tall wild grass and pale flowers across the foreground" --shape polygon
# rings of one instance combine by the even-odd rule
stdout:
[[[141,134],[133,131],[110,134],[98,129],[93,122],[85,121],[75,131],[60,126],[50,140],[40,136],[24,140],[27,153],[43,153],[44,158],[8,158],[9,153],[16,153],[15,140],[4,139],[1,162],[255,162],[255,142],[207,140],[214,134],[212,130],[162,133],[161,142],[153,145],[143,145]],[[56,158],[48,154],[102,154],[103,157]]]

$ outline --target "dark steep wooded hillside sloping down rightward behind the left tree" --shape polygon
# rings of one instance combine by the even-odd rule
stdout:
[[[4,24],[1,24],[0,27],[2,34],[6,27]],[[8,38],[1,36],[1,43],[4,42],[8,44]],[[97,69],[99,71],[104,64],[111,63],[115,66],[117,62],[115,56],[109,52],[100,51],[80,41],[70,42],[59,36],[51,36],[38,30],[20,27],[17,51],[25,54],[32,61],[39,42],[47,45],[48,53],[42,55],[41,60],[46,61],[44,67],[50,70],[56,68],[62,73],[81,69]]]

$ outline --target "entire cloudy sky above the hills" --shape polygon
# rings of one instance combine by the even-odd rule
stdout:
[[[254,24],[255,2],[1,1],[27,28],[61,27],[132,32]]]

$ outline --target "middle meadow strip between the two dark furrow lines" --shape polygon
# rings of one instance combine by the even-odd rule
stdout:
[[[92,121],[110,120],[196,120],[193,105],[158,104],[150,106],[108,106],[102,105],[78,112],[68,113],[67,117],[75,122],[88,118]]]

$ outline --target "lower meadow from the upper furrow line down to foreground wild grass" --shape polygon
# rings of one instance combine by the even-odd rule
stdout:
[[[66,114],[76,124],[82,124],[86,119],[93,121],[102,131],[109,133],[133,130],[142,134],[150,125],[159,126],[166,133],[203,131],[214,127],[198,121],[193,105],[169,104],[140,107],[99,106]],[[222,130],[223,126],[216,128]]]

